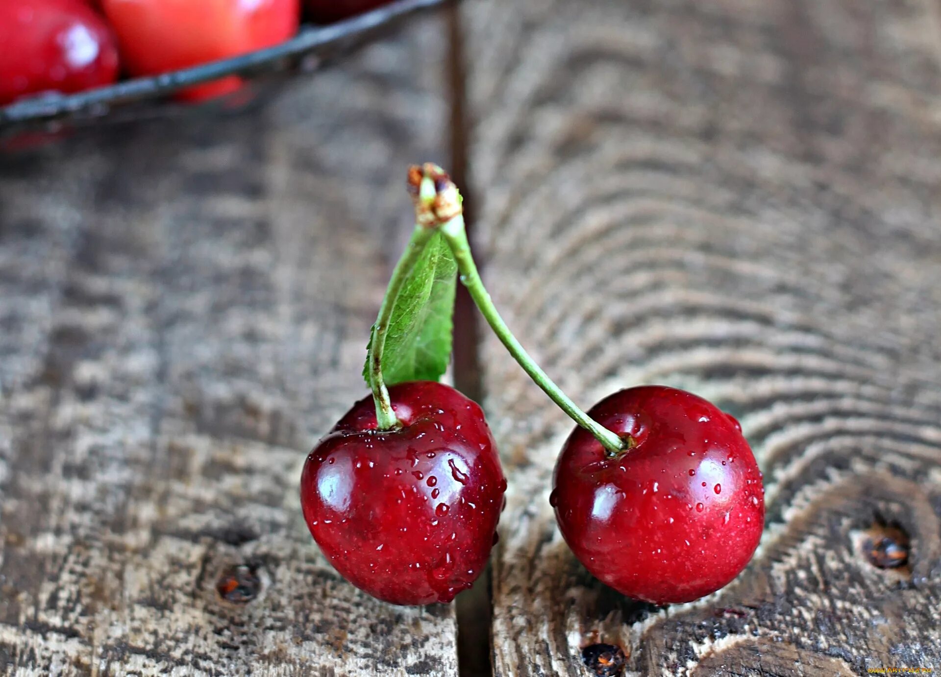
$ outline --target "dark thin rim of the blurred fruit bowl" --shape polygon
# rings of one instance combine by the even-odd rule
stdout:
[[[443,5],[447,0],[396,0],[342,22],[301,26],[297,35],[275,47],[213,61],[181,71],[124,80],[110,87],[77,94],[46,93],[0,107],[0,140],[54,137],[72,126],[156,118],[193,108],[224,110],[241,107],[258,87],[240,90],[212,102],[175,102],[170,95],[228,75],[240,75],[249,87],[270,87],[297,73],[317,70],[337,52],[375,38],[378,29],[412,12]]]

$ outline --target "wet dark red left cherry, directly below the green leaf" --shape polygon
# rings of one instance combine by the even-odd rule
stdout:
[[[377,431],[357,402],[311,451],[300,480],[311,535],[350,583],[397,605],[450,602],[496,540],[506,480],[484,413],[430,381],[389,389],[402,424]]]

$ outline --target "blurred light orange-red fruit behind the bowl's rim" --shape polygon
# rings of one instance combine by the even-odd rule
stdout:
[[[102,0],[132,75],[177,71],[272,47],[297,32],[299,0]],[[201,101],[241,87],[237,76],[190,87]]]

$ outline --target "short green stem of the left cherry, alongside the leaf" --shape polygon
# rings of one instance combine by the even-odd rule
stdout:
[[[373,332],[369,341],[369,386],[373,390],[375,420],[379,430],[391,430],[399,425],[399,420],[395,417],[395,412],[392,411],[389,390],[382,380],[382,353],[386,349],[386,336],[389,333],[392,309],[395,307],[395,301],[399,296],[399,291],[402,290],[402,285],[405,284],[408,274],[415,267],[419,257],[422,256],[424,245],[428,244],[434,234],[434,228],[425,228],[424,226],[416,226],[412,231],[405,253],[403,253],[399,262],[395,264],[395,269],[392,271],[389,288],[382,299],[379,316],[373,325]]]

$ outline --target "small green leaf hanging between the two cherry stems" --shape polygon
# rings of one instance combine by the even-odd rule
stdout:
[[[451,248],[436,233],[425,244],[392,308],[381,365],[387,386],[406,381],[437,381],[448,368],[456,278],[457,263]],[[368,357],[363,378],[368,385]]]

